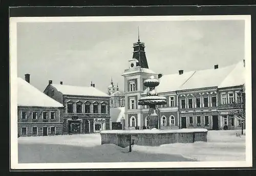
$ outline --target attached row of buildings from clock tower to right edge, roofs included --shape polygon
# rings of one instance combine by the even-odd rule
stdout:
[[[134,43],[133,59],[123,73],[125,95],[125,129],[144,129],[148,107],[138,105],[146,96],[143,81],[150,76],[160,81],[156,91],[165,96],[167,104],[157,107],[161,129],[207,128],[239,129],[242,122],[234,114],[234,103],[243,103],[245,61],[214,68],[162,75],[148,69],[144,43]],[[241,100],[240,100],[241,99]],[[244,126],[245,127],[245,126]]]

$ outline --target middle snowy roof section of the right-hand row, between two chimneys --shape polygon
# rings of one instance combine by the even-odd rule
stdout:
[[[204,87],[219,86],[227,75],[234,69],[235,64],[219,69],[196,71],[179,90],[200,89]]]

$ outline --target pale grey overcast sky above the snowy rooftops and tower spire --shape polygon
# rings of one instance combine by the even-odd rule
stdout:
[[[18,77],[44,91],[53,83],[95,86],[106,92],[111,77],[123,90],[133,43],[145,42],[148,67],[172,74],[219,68],[244,59],[244,21],[146,21],[18,23]],[[200,81],[200,80],[199,80]]]

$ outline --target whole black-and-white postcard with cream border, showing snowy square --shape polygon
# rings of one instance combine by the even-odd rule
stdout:
[[[250,164],[247,18],[151,18],[15,21],[17,168]]]

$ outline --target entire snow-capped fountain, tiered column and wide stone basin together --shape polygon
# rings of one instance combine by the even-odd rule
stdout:
[[[138,100],[138,104],[150,107],[147,116],[147,123],[150,129],[104,130],[100,132],[101,144],[115,144],[120,147],[130,146],[131,151],[132,143],[142,146],[160,146],[172,143],[207,142],[207,129],[204,128],[161,130],[159,113],[156,113],[156,105],[166,104],[166,98],[158,96],[155,91],[159,81],[154,76],[144,80],[143,84],[148,87],[149,91],[145,97],[141,97]]]

